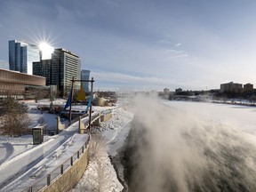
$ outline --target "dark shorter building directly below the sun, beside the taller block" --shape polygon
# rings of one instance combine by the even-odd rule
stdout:
[[[44,76],[46,85],[52,84],[52,60],[40,60],[33,62],[33,75]]]

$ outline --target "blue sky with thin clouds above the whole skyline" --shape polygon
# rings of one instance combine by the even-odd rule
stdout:
[[[161,91],[256,84],[254,0],[3,0],[8,40],[75,52],[96,89]]]

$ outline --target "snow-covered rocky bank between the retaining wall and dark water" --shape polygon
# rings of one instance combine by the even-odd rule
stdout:
[[[101,133],[108,144],[108,148],[101,152],[100,158],[90,160],[83,178],[77,183],[76,188],[71,190],[72,192],[117,192],[123,189],[122,184],[116,178],[116,172],[110,162],[108,154],[110,156],[116,156],[116,150],[124,145],[124,140],[130,130],[128,124],[132,121],[133,115],[131,112],[124,110],[124,108],[111,108],[111,110],[112,118],[100,124],[100,127],[94,128],[94,131],[98,130],[98,132]],[[104,180],[100,175],[104,177]],[[99,184],[99,180],[104,184],[103,186]]]

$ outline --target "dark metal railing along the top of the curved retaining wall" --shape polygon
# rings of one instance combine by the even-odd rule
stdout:
[[[76,153],[70,156],[63,164],[60,164],[52,172],[45,175],[43,178],[37,180],[34,184],[30,185],[28,188],[24,189],[22,192],[34,192],[39,191],[47,186],[50,186],[52,181],[57,180],[64,172],[67,172],[73,164],[79,159],[81,155],[84,154],[84,151],[87,149],[90,138],[84,143],[83,147],[80,148]]]

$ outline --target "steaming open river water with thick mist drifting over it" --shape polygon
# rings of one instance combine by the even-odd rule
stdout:
[[[152,99],[132,112],[129,191],[256,191],[254,135]]]

